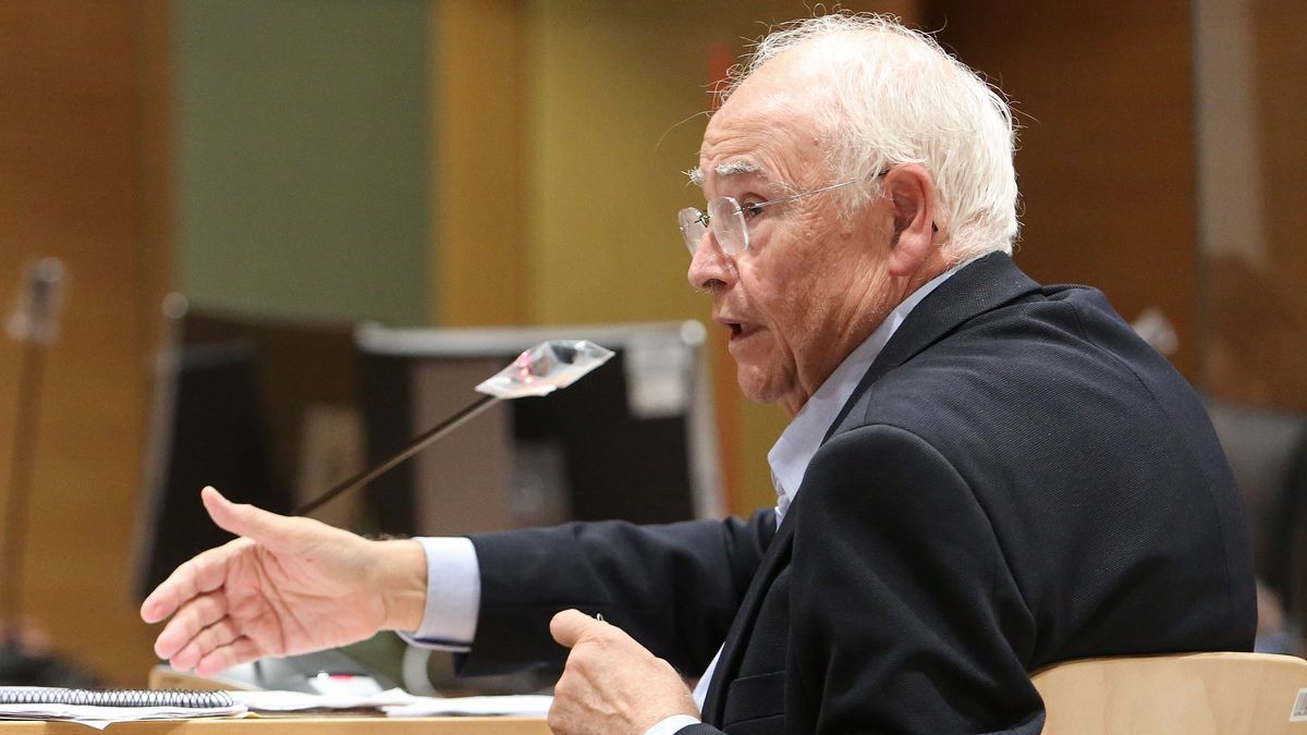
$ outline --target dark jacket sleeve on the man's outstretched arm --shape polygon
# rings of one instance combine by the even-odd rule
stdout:
[[[664,526],[569,523],[472,536],[481,568],[476,640],[460,674],[561,666],[549,620],[578,608],[604,619],[698,675],[731,626],[775,534],[775,514],[748,522]]]

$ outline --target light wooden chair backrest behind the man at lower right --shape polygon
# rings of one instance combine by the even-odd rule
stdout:
[[[1072,660],[1031,681],[1044,732],[1307,734],[1307,660],[1247,653]]]

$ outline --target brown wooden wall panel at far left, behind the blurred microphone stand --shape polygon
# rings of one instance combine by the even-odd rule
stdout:
[[[69,273],[35,426],[25,607],[60,653],[120,684],[142,683],[153,663],[152,633],[128,598],[127,574],[153,313],[148,290],[162,288],[166,272],[152,248],[166,218],[148,213],[157,201],[145,201],[145,192],[159,194],[159,169],[139,166],[141,145],[157,139],[142,124],[137,64],[159,56],[137,51],[166,25],[148,22],[157,20],[150,13],[165,9],[0,4],[0,305],[12,303],[31,258],[59,256]],[[5,466],[17,430],[18,350],[0,341]]]

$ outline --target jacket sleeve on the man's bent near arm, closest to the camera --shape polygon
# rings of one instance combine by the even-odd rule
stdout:
[[[944,455],[893,426],[838,434],[792,519],[787,732],[1039,732],[1033,616]]]

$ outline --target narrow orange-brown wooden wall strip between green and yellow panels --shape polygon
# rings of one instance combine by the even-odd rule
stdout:
[[[447,0],[431,13],[431,320],[444,326],[532,322],[524,13],[521,0]]]

